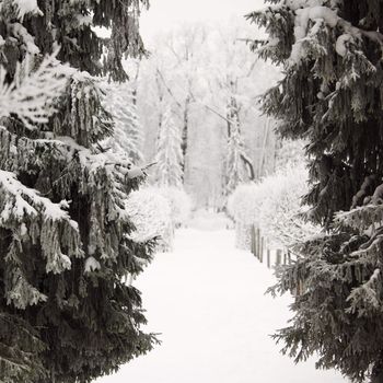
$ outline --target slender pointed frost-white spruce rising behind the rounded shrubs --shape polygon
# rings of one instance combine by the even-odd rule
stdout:
[[[169,109],[162,118],[156,144],[156,184],[161,187],[182,187],[182,137]]]

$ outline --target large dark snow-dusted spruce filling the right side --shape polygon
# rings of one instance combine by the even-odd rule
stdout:
[[[283,0],[248,18],[266,27],[259,54],[285,78],[264,107],[286,138],[307,140],[310,218],[326,234],[301,244],[277,290],[294,289],[290,327],[277,339],[298,361],[353,381],[383,381],[383,3]],[[258,44],[255,44],[258,45]],[[339,212],[344,211],[344,212]]]

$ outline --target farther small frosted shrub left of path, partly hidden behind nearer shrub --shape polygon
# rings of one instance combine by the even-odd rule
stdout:
[[[173,224],[176,228],[185,224],[192,211],[190,197],[183,188],[173,186],[160,187],[159,192],[170,204]]]

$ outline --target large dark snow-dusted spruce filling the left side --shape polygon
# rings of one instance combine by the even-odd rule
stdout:
[[[139,5],[0,3],[1,382],[90,382],[155,341],[140,330],[139,291],[123,282],[153,246],[127,235],[139,172],[97,144],[113,120],[92,77],[124,79],[123,53],[143,50]],[[111,40],[92,25],[112,27]]]

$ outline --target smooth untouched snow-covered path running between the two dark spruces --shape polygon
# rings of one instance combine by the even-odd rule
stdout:
[[[97,383],[345,383],[295,365],[270,339],[290,299],[265,295],[272,272],[234,248],[232,231],[181,230],[136,282],[162,345]]]

